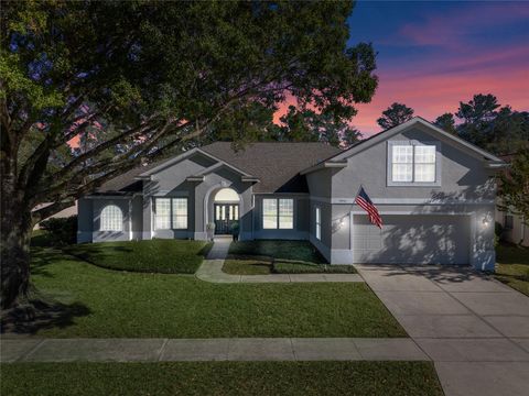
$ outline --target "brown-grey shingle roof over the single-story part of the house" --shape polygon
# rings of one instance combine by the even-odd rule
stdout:
[[[237,151],[230,142],[216,142],[201,150],[258,177],[260,183],[253,185],[253,193],[307,193],[305,176],[300,172],[342,152],[317,142],[257,142]],[[141,180],[134,177],[163,162],[133,168],[107,182],[98,191],[140,191]]]

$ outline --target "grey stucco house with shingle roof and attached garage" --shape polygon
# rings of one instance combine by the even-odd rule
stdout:
[[[471,264],[493,270],[494,175],[505,163],[421,118],[346,151],[323,143],[217,142],[139,167],[78,202],[78,242],[309,240],[332,264]],[[382,217],[355,197],[364,186]]]

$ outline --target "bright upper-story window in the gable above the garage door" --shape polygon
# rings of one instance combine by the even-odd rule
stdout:
[[[438,144],[390,142],[388,154],[389,185],[440,184]]]

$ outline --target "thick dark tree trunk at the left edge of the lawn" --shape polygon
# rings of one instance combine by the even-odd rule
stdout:
[[[2,180],[2,185],[3,185]],[[7,187],[7,186],[2,186]],[[8,188],[2,188],[7,193]],[[13,195],[2,194],[0,232],[1,308],[13,305],[28,293],[30,284],[31,208]]]

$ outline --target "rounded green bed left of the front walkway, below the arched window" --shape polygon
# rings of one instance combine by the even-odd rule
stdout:
[[[75,244],[64,251],[110,270],[194,274],[210,245],[204,241],[151,240]]]

